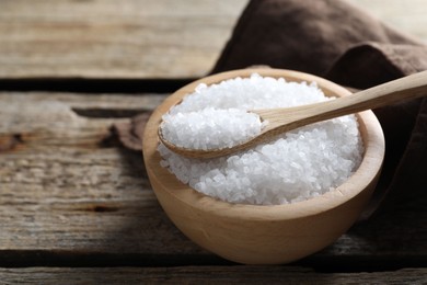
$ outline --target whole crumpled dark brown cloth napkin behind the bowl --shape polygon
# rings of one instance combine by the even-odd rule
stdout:
[[[343,0],[252,0],[211,72],[254,65],[300,70],[365,89],[427,69],[427,47]],[[386,155],[373,204],[384,193],[389,195],[383,208],[425,195],[427,101],[374,112],[384,129]],[[142,124],[143,119],[132,119],[130,126],[118,127],[125,146],[140,149]],[[126,139],[129,134],[134,144]]]

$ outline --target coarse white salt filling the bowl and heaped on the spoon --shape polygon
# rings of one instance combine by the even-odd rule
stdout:
[[[178,133],[185,133],[183,129],[188,124],[197,127],[210,124],[210,128],[197,130],[197,138],[181,136],[183,145],[226,147],[235,141],[223,141],[221,137],[226,135],[211,135],[211,132],[226,123],[219,127],[221,132],[235,135],[234,129],[242,122],[234,121],[234,116],[231,122],[230,114],[239,117],[247,110],[296,106],[325,100],[330,99],[315,83],[286,82],[284,79],[252,75],[246,79],[230,79],[209,87],[200,84],[181,104],[171,109],[163,119],[173,122],[168,132],[176,137]],[[207,123],[205,119],[215,122]],[[250,121],[247,117],[242,119]],[[210,160],[184,158],[163,145],[159,145],[158,150],[163,158],[161,164],[196,191],[230,203],[277,205],[321,195],[346,181],[361,161],[362,144],[357,126],[354,115],[343,116],[288,132],[269,144],[236,155]],[[258,127],[241,130],[240,139],[251,136],[251,132],[258,132]]]

